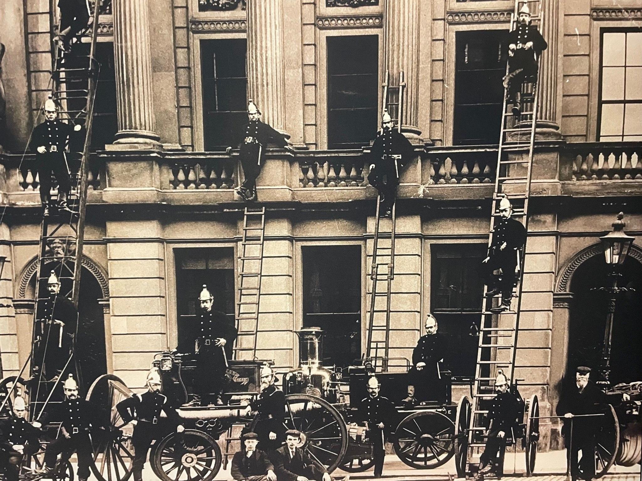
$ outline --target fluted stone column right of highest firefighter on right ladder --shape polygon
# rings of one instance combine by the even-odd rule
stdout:
[[[537,120],[538,137],[561,139],[560,127],[557,124],[557,65],[559,42],[559,0],[541,0],[542,36],[548,43],[539,60],[539,85],[537,96],[539,118]]]

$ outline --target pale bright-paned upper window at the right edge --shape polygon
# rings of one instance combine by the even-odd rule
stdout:
[[[603,30],[598,139],[642,140],[642,32]]]

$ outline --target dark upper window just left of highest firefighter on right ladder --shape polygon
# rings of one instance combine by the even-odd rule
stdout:
[[[508,44],[505,30],[460,31],[455,37],[453,144],[497,144]]]

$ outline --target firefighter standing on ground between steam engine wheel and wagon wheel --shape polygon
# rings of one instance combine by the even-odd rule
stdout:
[[[367,427],[367,437],[372,443],[374,477],[381,478],[386,455],[386,438],[392,434],[395,427],[397,410],[388,398],[379,396],[381,385],[375,376],[369,378],[367,388],[369,396],[361,400],[357,419]]]

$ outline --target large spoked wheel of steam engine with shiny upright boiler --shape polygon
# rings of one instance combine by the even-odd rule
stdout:
[[[284,424],[301,432],[301,449],[329,473],[340,466],[348,449],[348,430],[338,410],[309,394],[288,394],[285,409]]]

